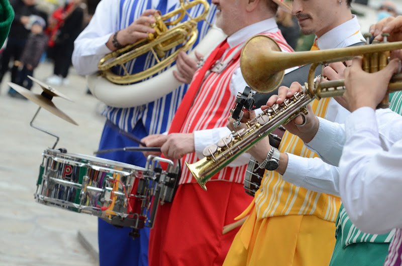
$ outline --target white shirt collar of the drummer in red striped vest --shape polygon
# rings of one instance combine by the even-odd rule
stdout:
[[[227,41],[229,47],[233,48],[259,33],[277,32],[278,30],[275,18],[270,18],[244,27],[229,36]]]

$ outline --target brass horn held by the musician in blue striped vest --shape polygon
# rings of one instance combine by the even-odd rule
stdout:
[[[180,51],[185,52],[190,49],[197,39],[197,22],[205,19],[210,6],[205,0],[193,0],[191,2],[180,0],[180,3],[179,9],[162,16],[160,13],[154,16],[155,23],[151,27],[155,29],[155,33],[150,33],[147,39],[125,46],[100,59],[98,69],[102,71],[102,75],[116,84],[134,83],[163,70],[175,60]],[[196,5],[203,5],[204,12],[200,16],[191,18],[187,10]],[[190,20],[180,23],[186,14]],[[178,16],[177,19],[169,22],[168,20],[174,16]],[[173,25],[175,26],[168,29],[168,26]],[[167,51],[179,45],[181,46],[172,54],[165,57]],[[142,72],[130,74],[125,63],[149,51],[153,53],[158,63]],[[121,65],[124,75],[118,75],[111,71],[111,68],[116,65]]]

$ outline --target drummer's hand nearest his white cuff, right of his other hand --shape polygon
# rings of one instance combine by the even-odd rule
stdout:
[[[193,133],[173,133],[166,137],[166,142],[161,147],[166,158],[180,159],[188,153],[195,152]]]

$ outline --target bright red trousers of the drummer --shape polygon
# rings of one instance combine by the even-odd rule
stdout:
[[[225,181],[180,185],[171,204],[159,206],[150,233],[150,266],[222,265],[240,226],[222,235],[253,200],[243,185]]]

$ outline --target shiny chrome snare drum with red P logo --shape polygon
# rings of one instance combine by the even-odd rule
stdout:
[[[153,174],[142,167],[47,149],[35,198],[45,205],[140,229],[148,222],[153,191],[158,186],[150,176]]]

